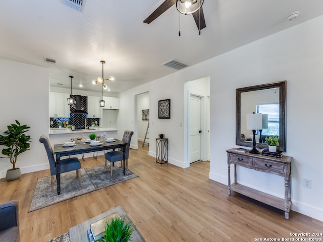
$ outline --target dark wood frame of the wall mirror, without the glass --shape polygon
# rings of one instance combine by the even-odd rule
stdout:
[[[263,89],[279,88],[279,146],[278,149],[286,152],[286,81],[273,82],[262,85],[236,89],[236,145],[252,147],[252,143],[241,140],[241,93]],[[257,148],[267,149],[267,144],[256,144]]]

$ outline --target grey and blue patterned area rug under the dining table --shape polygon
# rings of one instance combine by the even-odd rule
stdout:
[[[108,165],[108,169],[109,169]],[[76,171],[69,171],[61,174],[61,194],[57,194],[56,179],[53,191],[50,190],[50,176],[40,177],[37,180],[35,192],[31,201],[29,212],[35,211],[49,205],[62,202],[101,188],[106,188],[122,181],[137,177],[135,173],[126,170],[123,174],[123,167],[120,162],[115,162],[112,176],[109,171],[104,170],[104,165],[90,166],[81,169],[81,184],[78,183]]]

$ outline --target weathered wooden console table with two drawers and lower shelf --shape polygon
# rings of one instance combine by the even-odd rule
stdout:
[[[276,158],[265,155],[255,155],[250,153],[236,152],[235,148],[227,150],[228,153],[228,189],[229,195],[231,191],[240,193],[259,202],[268,204],[272,207],[285,211],[285,219],[289,219],[289,211],[291,209],[291,161],[292,157],[283,156]],[[234,164],[234,183],[231,184],[230,166]],[[285,180],[285,198],[278,198],[255,189],[243,186],[237,183],[237,165],[273,173],[284,177]]]

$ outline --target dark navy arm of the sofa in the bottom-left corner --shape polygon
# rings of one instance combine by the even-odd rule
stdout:
[[[0,204],[0,230],[19,227],[18,201],[13,200]]]

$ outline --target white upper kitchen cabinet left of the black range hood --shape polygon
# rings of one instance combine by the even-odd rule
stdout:
[[[60,92],[49,93],[49,117],[69,117],[70,106],[67,98],[70,94]]]

